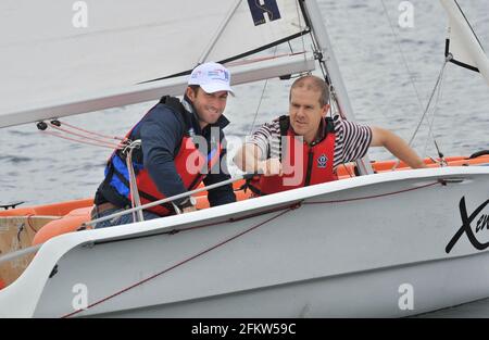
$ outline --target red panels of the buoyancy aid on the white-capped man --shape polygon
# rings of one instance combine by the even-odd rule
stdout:
[[[211,153],[205,156],[202,154],[190,137],[184,137],[181,140],[181,147],[175,156],[174,163],[178,175],[184,182],[187,190],[193,190],[205,178],[205,174],[211,172],[213,166],[220,162],[222,147],[217,144],[216,149],[211,150]],[[136,184],[141,200],[141,204],[159,201],[165,198],[161,193],[156,185],[151,179],[151,176],[147,168],[142,168],[136,175]],[[129,193],[129,199],[131,194]],[[160,204],[147,209],[160,216],[166,216],[173,212],[168,204]]]

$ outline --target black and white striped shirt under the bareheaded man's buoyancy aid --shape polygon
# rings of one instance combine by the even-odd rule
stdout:
[[[333,167],[363,158],[372,141],[372,129],[368,126],[343,121],[339,115],[333,117],[335,125],[335,160]],[[271,158],[280,155],[280,124],[278,119],[263,124],[247,140],[256,144],[262,158],[269,152]]]

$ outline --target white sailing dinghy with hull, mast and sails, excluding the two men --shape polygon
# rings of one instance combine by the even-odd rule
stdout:
[[[447,62],[489,85],[488,59],[461,8],[440,2],[450,21]],[[2,66],[11,81],[1,87],[0,127],[47,128],[68,115],[178,96],[205,61],[226,64],[235,85],[322,72],[331,104],[354,119],[314,0],[90,5],[117,15],[80,34],[65,29],[55,0],[15,1],[35,15],[15,34],[2,29],[0,54],[12,63]],[[36,25],[48,11],[63,20]],[[0,27],[17,27],[15,14],[2,11]],[[266,54],[305,37],[310,50],[299,43],[300,52]],[[103,65],[91,53],[102,47]],[[89,228],[91,199],[5,204],[0,317],[396,317],[487,298],[489,156],[426,162],[413,171],[365,158],[338,169],[334,182],[260,198],[238,190],[233,204],[104,229]],[[237,189],[244,177],[231,179]],[[191,192],[201,207],[206,189]]]

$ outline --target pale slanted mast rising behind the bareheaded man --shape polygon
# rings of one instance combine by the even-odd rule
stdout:
[[[334,92],[338,102],[339,110],[347,117],[348,121],[355,121],[353,109],[348,97],[347,89],[344,87],[343,79],[336,60],[335,53],[331,48],[329,36],[324,25],[323,17],[321,16],[319,7],[315,0],[302,0],[306,17],[310,21],[311,32],[319,49],[319,63],[322,63],[327,70],[328,77],[331,80]],[[356,165],[361,175],[373,174],[371,162],[368,156],[356,161]]]

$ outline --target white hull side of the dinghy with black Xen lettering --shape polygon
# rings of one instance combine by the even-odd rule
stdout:
[[[442,186],[437,184],[441,178],[463,180],[449,181],[447,186]],[[198,304],[210,302],[209,307],[203,306],[202,311],[205,313],[200,316],[217,316],[218,313],[211,313],[212,304],[222,306],[222,316],[235,315],[233,311],[236,316],[262,316],[262,313],[268,316],[300,316],[301,313],[304,316],[336,316],[337,311],[340,311],[337,313],[339,316],[405,315],[406,313],[396,314],[387,305],[387,298],[379,300],[378,304],[374,304],[375,300],[367,299],[364,303],[368,308],[347,308],[344,314],[341,306],[348,306],[350,298],[337,293],[331,294],[338,301],[336,304],[331,302],[334,308],[329,310],[326,305],[321,305],[311,307],[309,312],[306,308],[299,311],[298,306],[304,307],[309,299],[308,294],[300,292],[294,294],[293,299],[297,301],[292,298],[285,299],[284,303],[290,303],[289,308],[280,306],[281,304],[274,307],[273,303],[269,306],[265,303],[263,312],[258,315],[249,315],[252,311],[247,310],[247,299],[252,300],[255,293],[261,297],[268,292],[271,299],[275,299],[275,294],[284,299],[275,289],[287,291],[288,287],[296,285],[294,288],[302,291],[301,284],[311,285],[324,280],[324,285],[314,289],[324,286],[321,289],[326,290],[327,297],[328,291],[335,291],[337,279],[351,278],[349,285],[363,290],[364,285],[380,285],[384,275],[386,285],[389,280],[402,278],[396,279],[399,281],[396,289],[403,282],[413,284],[416,297],[421,297],[421,304],[415,306],[413,313],[432,311],[454,302],[473,301],[489,294],[484,274],[471,270],[467,276],[459,276],[460,281],[453,281],[439,273],[444,273],[446,262],[451,263],[447,259],[480,253],[464,235],[449,254],[446,253],[446,247],[461,227],[461,198],[465,197],[467,214],[471,215],[488,200],[488,187],[489,168],[484,166],[385,173],[237,202],[233,206],[217,206],[130,226],[63,235],[48,241],[17,281],[0,291],[0,316],[65,316],[74,311],[72,301],[76,294],[73,293],[73,287],[76,284],[86,285],[88,304],[92,304],[191,257],[195,259],[123,294],[77,313],[76,316],[113,312],[121,314],[125,310],[138,310],[145,314],[149,313],[145,312],[147,310],[160,310],[155,307],[159,305],[162,311],[167,307],[181,308],[187,303],[195,307],[193,301],[200,301]],[[410,191],[381,196],[401,190]],[[372,199],[352,201],[365,197]],[[247,219],[238,218],[277,206],[290,206],[300,200],[305,200],[305,204],[269,223],[265,222],[278,216],[280,212],[269,212]],[[347,201],[324,205],[308,204],[331,200]],[[386,206],[389,210],[385,211]],[[486,206],[481,213],[487,214],[489,206]],[[231,211],[239,213],[233,214]],[[352,211],[355,212],[354,215]],[[358,218],[359,216],[362,218]],[[229,217],[239,221],[230,223]],[[263,223],[265,224],[260,226]],[[175,235],[161,235],[163,231],[197,225],[210,226]],[[255,226],[258,227],[250,230]],[[246,235],[239,236],[247,230]],[[145,235],[147,237],[134,239]],[[218,245],[229,239],[228,243]],[[92,248],[83,247],[93,242]],[[206,251],[210,249],[211,251]],[[201,256],[196,256],[200,253]],[[481,259],[478,255],[477,259],[479,257]],[[57,264],[58,273],[48,279]],[[427,275],[425,267],[440,272]],[[474,267],[477,266],[472,266]],[[109,276],[108,268],[111,268]],[[484,269],[484,261],[480,262],[480,268]],[[396,270],[400,273],[397,274]],[[402,276],[410,273],[411,280]],[[371,275],[375,278],[368,278]],[[454,275],[456,276],[455,272]],[[434,290],[437,291],[430,292],[427,288],[427,297],[439,293],[439,298],[423,298],[425,289],[416,288],[423,287],[417,284],[422,278],[429,281],[428,288],[436,288]],[[479,278],[480,284],[475,284]],[[343,281],[339,286],[348,287]],[[488,287],[487,290],[484,287]],[[446,288],[454,293],[444,295],[440,290]],[[304,289],[308,291],[309,288]],[[472,294],[467,289],[475,293]],[[397,290],[390,293],[393,301],[389,303],[397,307],[399,293]],[[220,297],[218,300],[214,300],[215,297]],[[226,297],[230,301],[240,301],[239,297],[243,299],[237,304],[218,302]],[[352,299],[351,303],[359,299]],[[266,299],[261,298],[260,301],[266,302]],[[361,306],[362,301],[356,303]],[[328,300],[325,303],[329,303]],[[190,315],[192,312],[178,313]]]

